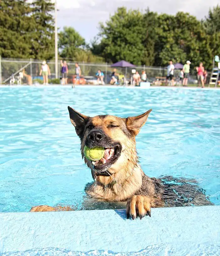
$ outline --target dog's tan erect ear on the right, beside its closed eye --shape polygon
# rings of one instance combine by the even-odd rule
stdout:
[[[151,111],[152,109],[148,110],[144,114],[126,118],[126,125],[128,130],[135,136],[138,135],[140,128],[146,123],[148,115],[151,113]]]

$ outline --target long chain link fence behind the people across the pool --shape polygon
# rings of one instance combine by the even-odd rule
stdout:
[[[1,58],[0,56],[0,84],[9,84],[10,79],[12,76],[18,76],[19,72],[25,70],[27,75],[32,77],[32,80],[35,81],[36,79],[42,79],[39,73],[41,70],[42,61],[40,60],[32,60],[32,59],[6,59]],[[48,61],[47,62],[50,71],[51,71],[51,78],[55,78],[55,61]],[[70,62],[67,60],[68,64],[68,77],[71,78],[75,75],[75,62]],[[81,68],[81,75],[84,77],[95,78],[97,70],[101,70],[104,73],[104,81],[105,83],[109,83],[111,80],[111,74],[113,72],[113,68],[111,64],[108,63],[78,63]],[[150,82],[155,82],[158,80],[164,80],[167,74],[167,69],[164,67],[146,67],[146,66],[137,66],[134,68],[117,68],[117,73],[119,74],[126,74],[126,79],[130,80],[132,76],[132,69],[136,69],[139,74],[143,70],[146,71],[147,79]],[[174,77],[179,76],[180,70],[174,70]],[[191,75],[191,79],[196,80],[196,72],[195,74]],[[209,81],[210,74],[208,73],[207,81]],[[61,78],[61,64],[58,62],[58,78]]]

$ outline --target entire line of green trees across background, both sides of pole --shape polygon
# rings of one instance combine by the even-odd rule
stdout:
[[[5,58],[54,58],[54,3],[51,0],[0,1],[0,54]],[[118,8],[90,45],[73,27],[58,34],[62,58],[85,62],[117,62],[164,66],[174,62],[204,62],[220,52],[220,6],[198,20],[189,13],[157,14],[149,9]]]

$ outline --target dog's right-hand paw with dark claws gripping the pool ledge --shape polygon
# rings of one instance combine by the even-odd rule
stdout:
[[[146,214],[151,217],[151,205],[150,198],[146,196],[132,196],[127,201],[126,205],[126,214],[127,219],[129,219],[129,215],[134,220],[138,215],[140,219],[142,219]]]

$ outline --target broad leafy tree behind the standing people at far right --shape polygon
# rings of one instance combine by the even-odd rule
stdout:
[[[183,12],[175,16],[158,16],[155,64],[166,65],[169,59],[184,63],[187,59],[192,67],[198,65],[201,51],[204,51],[205,33],[196,17]]]

